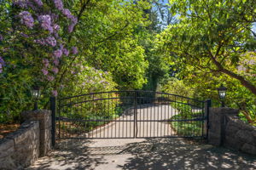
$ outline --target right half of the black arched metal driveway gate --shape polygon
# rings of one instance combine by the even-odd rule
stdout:
[[[147,91],[137,96],[137,138],[204,136],[203,101]]]

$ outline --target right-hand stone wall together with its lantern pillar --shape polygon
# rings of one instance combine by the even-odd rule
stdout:
[[[208,142],[256,155],[256,127],[242,122],[238,110],[210,108]]]

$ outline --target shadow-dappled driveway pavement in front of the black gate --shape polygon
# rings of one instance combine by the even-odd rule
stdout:
[[[256,157],[184,139],[61,141],[27,170],[254,170]]]

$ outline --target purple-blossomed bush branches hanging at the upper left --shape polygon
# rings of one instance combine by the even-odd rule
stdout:
[[[67,42],[67,32],[73,32],[78,19],[68,8],[64,8],[62,0],[13,0],[15,5],[15,17],[20,20],[21,25],[17,25],[17,32],[22,41],[29,43],[33,50],[21,50],[24,56],[33,56],[29,61],[41,74],[35,77],[42,80],[49,87],[54,84],[60,74],[62,64],[61,60],[70,59],[70,52],[78,54],[77,48],[71,48]],[[57,9],[57,10],[55,10]],[[3,35],[0,34],[0,42],[3,41]],[[26,48],[27,46],[24,45]],[[64,48],[65,47],[65,48]],[[7,49],[8,50],[8,49]],[[22,56],[22,54],[20,54]],[[5,56],[3,55],[3,58]],[[0,73],[3,72],[4,62],[0,58]],[[27,58],[31,59],[31,58]],[[39,62],[38,62],[39,59]],[[54,95],[57,95],[54,89]]]

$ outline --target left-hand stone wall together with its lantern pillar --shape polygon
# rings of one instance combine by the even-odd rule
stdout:
[[[0,169],[24,169],[51,148],[51,112],[21,113],[24,123],[0,140]]]

